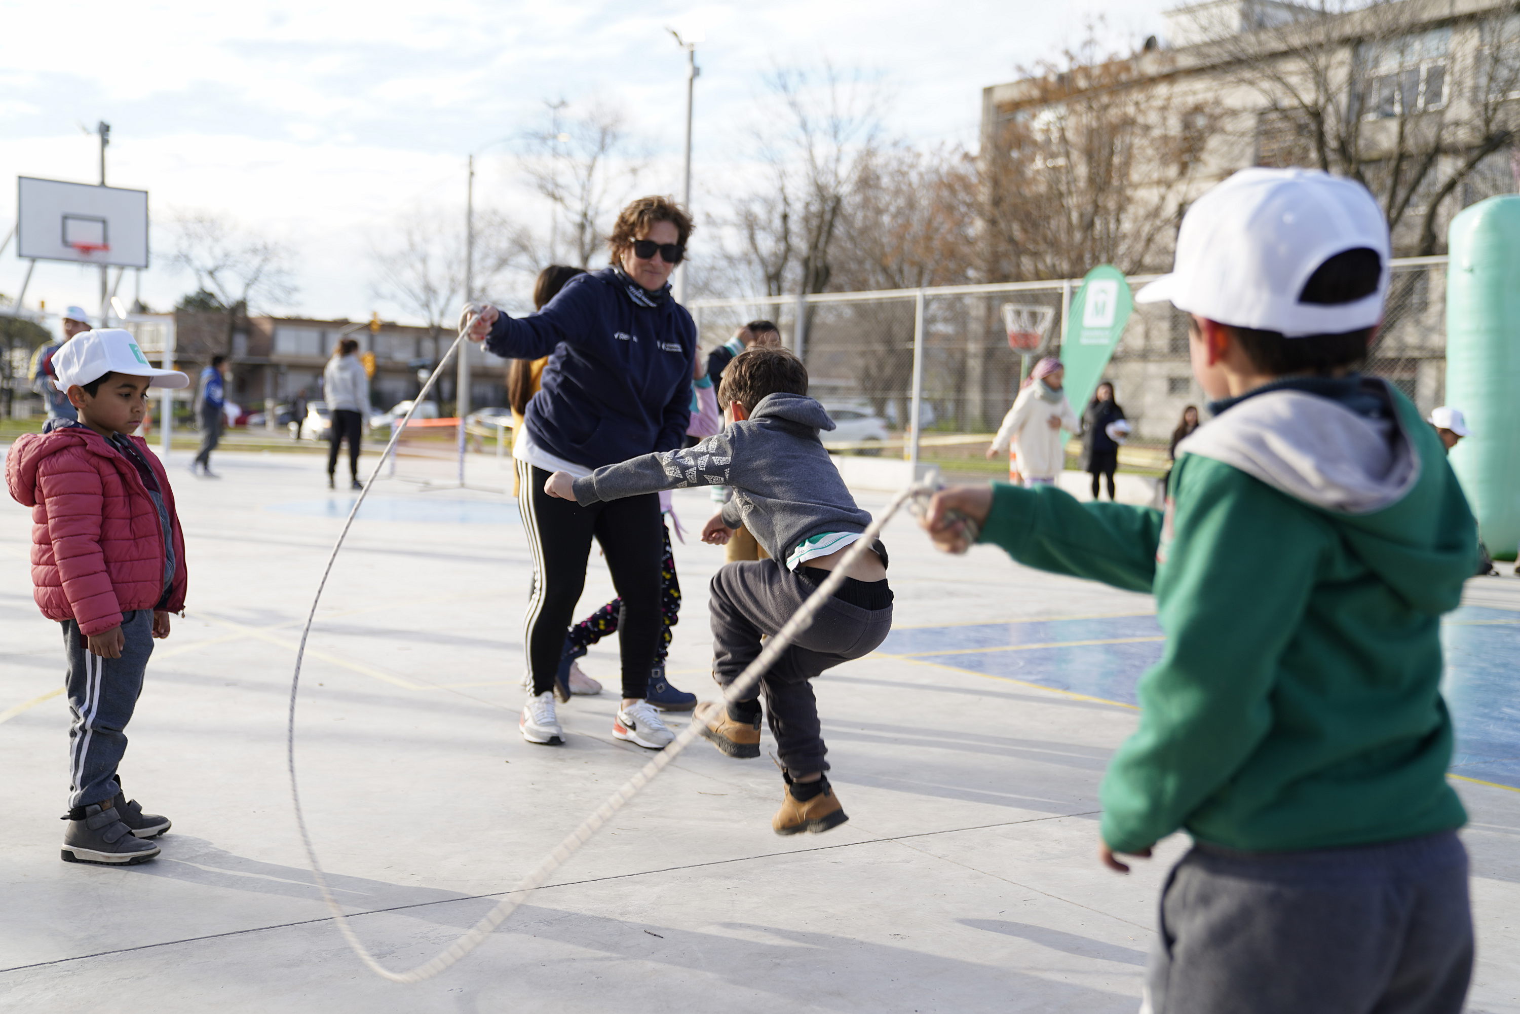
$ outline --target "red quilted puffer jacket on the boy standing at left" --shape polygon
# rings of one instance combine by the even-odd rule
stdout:
[[[134,436],[163,490],[175,541],[167,610],[185,605],[185,540],[169,476],[147,441]],[[32,508],[33,597],[50,620],[78,620],[103,634],[122,613],[163,599],[164,537],[143,479],[103,436],[82,426],[17,438],[6,455],[11,496]]]

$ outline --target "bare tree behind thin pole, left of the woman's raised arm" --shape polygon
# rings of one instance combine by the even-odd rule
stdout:
[[[489,292],[514,268],[530,268],[534,243],[527,230],[500,211],[476,211],[471,275],[476,292]],[[371,237],[374,269],[369,290],[427,322],[433,360],[441,336],[453,324],[464,298],[464,213],[416,207]]]

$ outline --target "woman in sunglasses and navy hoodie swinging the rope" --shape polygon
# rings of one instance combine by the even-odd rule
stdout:
[[[644,699],[661,634],[658,494],[582,508],[547,496],[544,482],[555,471],[588,476],[602,465],[684,444],[696,325],[670,298],[669,281],[690,236],[692,219],[679,205],[640,198],[613,227],[611,266],[572,278],[534,316],[512,319],[491,306],[465,307],[477,312],[470,337],[491,353],[549,356],[512,447],[535,569],[526,631],[534,690],[518,722],[530,743],[564,742],[555,716],[555,673],[585,585],[593,537],[623,599],[623,702],[613,736],[649,749],[675,737]]]

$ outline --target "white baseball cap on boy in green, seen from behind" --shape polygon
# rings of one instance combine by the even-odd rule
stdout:
[[[1300,303],[1322,263],[1366,248],[1382,260],[1377,290],[1353,303]],[[1234,327],[1284,337],[1342,334],[1383,319],[1388,222],[1366,187],[1318,169],[1242,169],[1183,216],[1176,261],[1135,293]]]

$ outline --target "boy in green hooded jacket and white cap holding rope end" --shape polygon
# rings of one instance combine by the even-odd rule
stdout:
[[[1164,514],[997,485],[941,491],[924,521],[944,549],[964,517],[1023,564],[1155,593],[1167,643],[1104,778],[1099,850],[1126,873],[1114,853],[1193,838],[1163,891],[1155,1014],[1456,1014],[1467,993],[1439,617],[1477,547],[1436,435],[1354,372],[1388,260],[1359,184],[1236,173],[1137,295],[1190,315],[1213,398]]]

